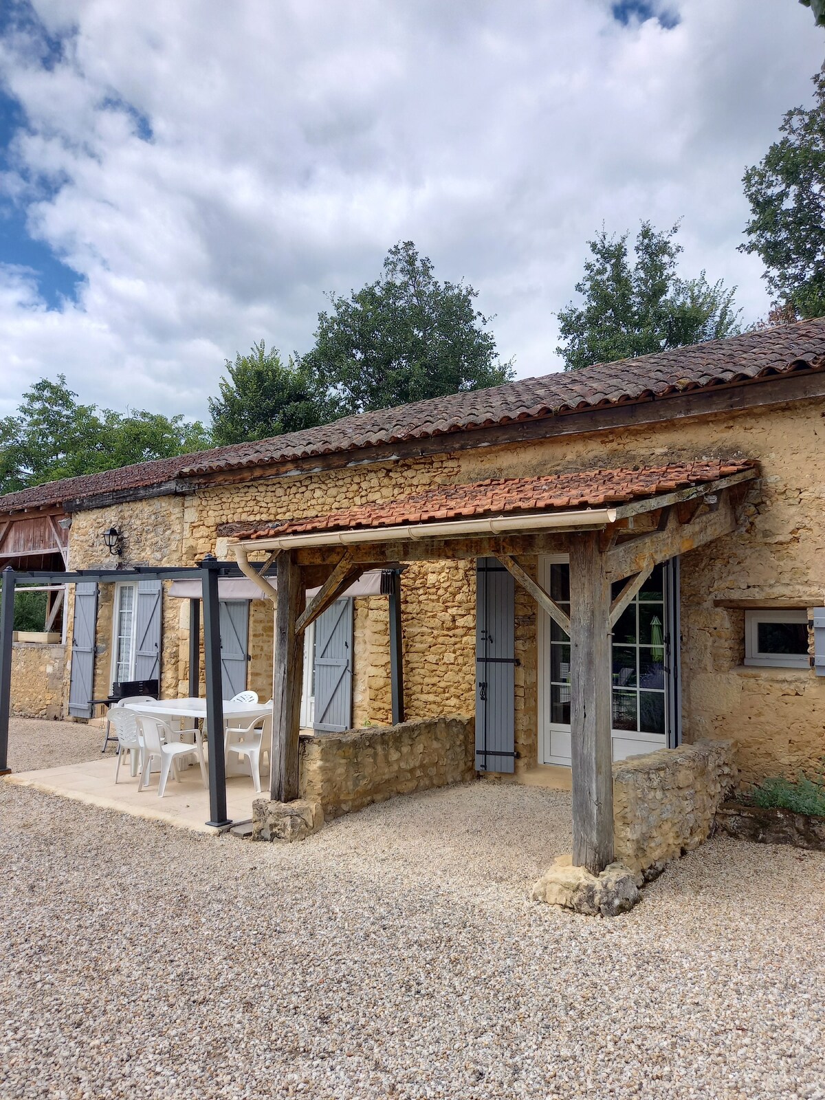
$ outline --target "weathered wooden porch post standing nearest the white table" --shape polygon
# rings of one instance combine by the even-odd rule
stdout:
[[[304,681],[304,638],[296,624],[304,608],[304,581],[294,551],[278,558],[275,605],[275,661],[272,697],[270,796],[276,802],[298,798],[298,732]]]

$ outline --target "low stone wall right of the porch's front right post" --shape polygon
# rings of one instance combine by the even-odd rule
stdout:
[[[661,869],[706,840],[736,782],[733,741],[659,749],[613,766],[616,860]]]

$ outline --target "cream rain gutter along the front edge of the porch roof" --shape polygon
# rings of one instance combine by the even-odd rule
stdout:
[[[616,521],[615,508],[586,508],[581,512],[543,512],[532,516],[485,516],[475,519],[438,520],[429,524],[405,524],[398,527],[367,527],[350,531],[307,531],[267,539],[250,539],[231,543],[238,556],[242,548],[255,550],[298,550],[302,547],[352,546],[358,542],[394,542],[400,539],[452,538],[461,535],[506,535],[510,531],[547,531],[598,529]],[[244,551],[244,562],[245,562]],[[246,576],[244,562],[238,564]],[[248,564],[249,568],[249,564]],[[254,573],[255,578],[257,574]],[[266,583],[263,578],[258,582]]]

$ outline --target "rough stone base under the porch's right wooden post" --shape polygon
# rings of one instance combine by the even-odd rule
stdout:
[[[559,856],[532,888],[532,900],[586,916],[617,916],[638,905],[642,883],[642,876],[623,864],[591,875],[584,867],[574,867],[572,856]]]

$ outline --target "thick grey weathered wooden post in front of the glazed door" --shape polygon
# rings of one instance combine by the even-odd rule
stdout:
[[[598,875],[613,862],[610,585],[597,534],[570,551],[573,862]]]

